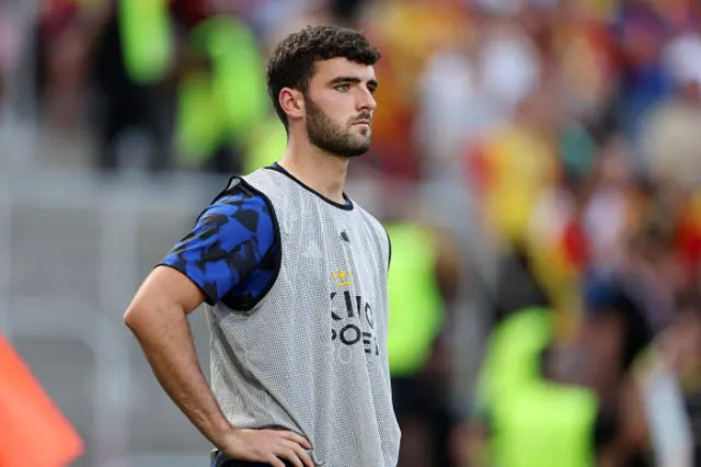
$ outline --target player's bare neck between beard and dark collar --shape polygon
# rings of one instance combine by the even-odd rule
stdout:
[[[348,158],[323,151],[308,141],[297,143],[290,137],[279,164],[317,193],[335,203],[346,202],[343,191]]]

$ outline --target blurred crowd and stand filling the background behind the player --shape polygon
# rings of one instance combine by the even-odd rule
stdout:
[[[266,58],[320,23],[383,53],[347,191],[393,242],[400,467],[701,465],[700,9],[0,0],[0,330],[74,466],[206,465],[122,316],[229,174],[281,155]]]

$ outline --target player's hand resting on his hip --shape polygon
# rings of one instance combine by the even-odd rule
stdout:
[[[304,437],[283,430],[233,430],[220,449],[232,459],[267,463],[273,467],[285,467],[281,459],[295,467],[314,467],[304,449],[311,444]]]

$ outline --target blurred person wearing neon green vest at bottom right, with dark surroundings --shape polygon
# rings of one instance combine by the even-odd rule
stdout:
[[[469,465],[614,465],[613,436],[599,400],[582,385],[581,372],[572,378],[577,365],[559,362],[567,361],[566,352],[553,332],[548,307],[526,305],[491,333],[479,405],[462,430]]]

